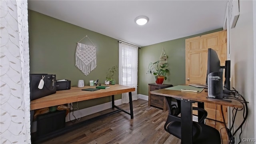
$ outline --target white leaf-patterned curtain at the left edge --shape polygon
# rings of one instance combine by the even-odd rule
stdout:
[[[30,144],[27,0],[1,0],[1,144]]]

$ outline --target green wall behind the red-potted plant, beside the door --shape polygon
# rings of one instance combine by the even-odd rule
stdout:
[[[164,48],[165,54],[168,56],[168,69],[170,73],[167,74],[167,80],[164,80],[164,84],[172,84],[174,86],[186,83],[186,69],[185,69],[185,40],[195,36],[209,34],[223,30],[222,28],[188,36],[184,38],[178,38],[176,40],[169,40],[150,46],[144,46],[140,49],[139,55],[139,81],[138,81],[138,94],[148,96],[148,84],[154,83],[154,76],[146,74],[148,72],[148,64],[150,62],[156,62],[159,60]]]

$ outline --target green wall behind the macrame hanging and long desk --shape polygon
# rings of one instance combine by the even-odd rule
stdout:
[[[30,74],[56,74],[56,79],[71,80],[77,86],[78,80],[99,79],[104,83],[107,70],[118,66],[118,40],[93,32],[61,20],[28,10]],[[85,76],[75,66],[76,42],[88,35],[96,46],[97,67]],[[88,38],[81,43],[93,45]],[[114,75],[118,84],[118,72]],[[121,96],[115,96],[120,99]],[[79,108],[86,108],[111,101],[110,97],[79,102]],[[76,104],[74,104],[75,106]]]

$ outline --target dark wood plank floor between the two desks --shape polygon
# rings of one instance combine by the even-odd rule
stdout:
[[[120,107],[129,110],[129,104]],[[148,101],[141,99],[133,101],[133,110],[133,120],[130,115],[118,112],[41,144],[180,144],[180,139],[164,130],[168,112],[148,106]],[[99,114],[102,112],[81,120]]]

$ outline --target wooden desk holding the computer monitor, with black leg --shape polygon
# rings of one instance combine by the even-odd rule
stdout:
[[[224,106],[231,106],[235,108],[243,108],[243,105],[237,100],[232,100],[232,102],[227,102],[224,100],[206,98],[208,96],[207,92],[184,92],[179,90],[155,90],[151,91],[151,94],[169,96],[178,100],[181,100],[181,143],[182,144],[192,144],[192,103],[198,102],[203,106],[204,102],[212,104],[220,104]],[[200,117],[200,115],[198,116]]]

